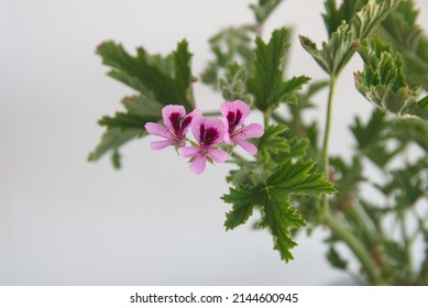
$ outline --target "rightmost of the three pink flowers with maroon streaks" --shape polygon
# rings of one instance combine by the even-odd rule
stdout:
[[[245,139],[260,138],[264,130],[257,123],[244,125],[243,122],[250,116],[250,107],[242,100],[233,102],[226,101],[220,107],[221,114],[224,117],[226,134],[224,142],[233,145],[238,144],[252,155],[257,153],[257,147]]]

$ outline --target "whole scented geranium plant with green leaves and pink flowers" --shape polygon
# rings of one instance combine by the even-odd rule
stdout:
[[[109,75],[138,94],[122,100],[124,111],[101,118],[107,131],[89,161],[110,152],[120,167],[120,147],[151,135],[152,150],[174,148],[195,176],[209,172],[207,163],[229,162],[230,189],[221,197],[231,206],[227,230],[260,211],[255,228],[267,229],[281,260],[289,262],[296,233],[322,227],[330,234],[327,260],[360,283],[427,285],[428,37],[414,1],[326,0],[328,40],[317,47],[299,36],[301,52],[323,69],[326,80],[285,77],[289,29],[262,38],[264,23],[282,2],[259,0],[250,6],[252,24],[212,36],[212,59],[199,77],[191,72],[186,41],[166,56],[143,48],[131,55],[114,42],[99,45]],[[355,55],[361,70],[343,77],[354,79],[349,95],[371,102],[373,112],[350,123],[352,155],[332,156],[336,85]],[[221,94],[211,110],[196,108],[197,81]],[[327,101],[316,99],[321,89]],[[320,128],[306,112],[322,103]],[[248,123],[250,113],[262,114],[263,123]],[[239,154],[242,150],[249,155]],[[367,176],[367,167],[381,176]],[[376,191],[376,198],[366,191]]]

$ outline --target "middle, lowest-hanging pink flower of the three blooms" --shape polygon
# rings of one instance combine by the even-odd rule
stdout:
[[[190,169],[195,174],[205,170],[207,160],[217,163],[224,163],[229,154],[220,148],[216,148],[223,141],[224,124],[219,119],[196,117],[191,122],[191,132],[198,143],[197,146],[183,146],[178,148],[178,154],[183,157],[195,157],[190,164]]]

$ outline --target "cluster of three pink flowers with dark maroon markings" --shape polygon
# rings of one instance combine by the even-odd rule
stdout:
[[[190,169],[195,174],[205,170],[207,161],[224,163],[229,158],[229,153],[221,148],[222,144],[230,147],[238,144],[255,155],[257,147],[246,139],[260,138],[264,131],[257,123],[244,124],[251,113],[250,107],[242,100],[226,101],[220,107],[220,112],[224,117],[223,120],[205,118],[198,109],[186,114],[183,106],[165,106],[162,110],[164,125],[152,122],[145,124],[150,134],[164,139],[153,141],[152,150],[176,146],[180,156],[190,157]],[[196,142],[186,145],[188,141],[186,134],[189,129]]]

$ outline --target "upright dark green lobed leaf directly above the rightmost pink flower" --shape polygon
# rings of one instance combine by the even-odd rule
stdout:
[[[290,31],[275,30],[266,44],[255,41],[254,75],[248,79],[248,88],[255,97],[255,106],[262,112],[275,109],[279,102],[296,102],[295,91],[310,78],[306,76],[284,80],[283,63],[289,47]]]

